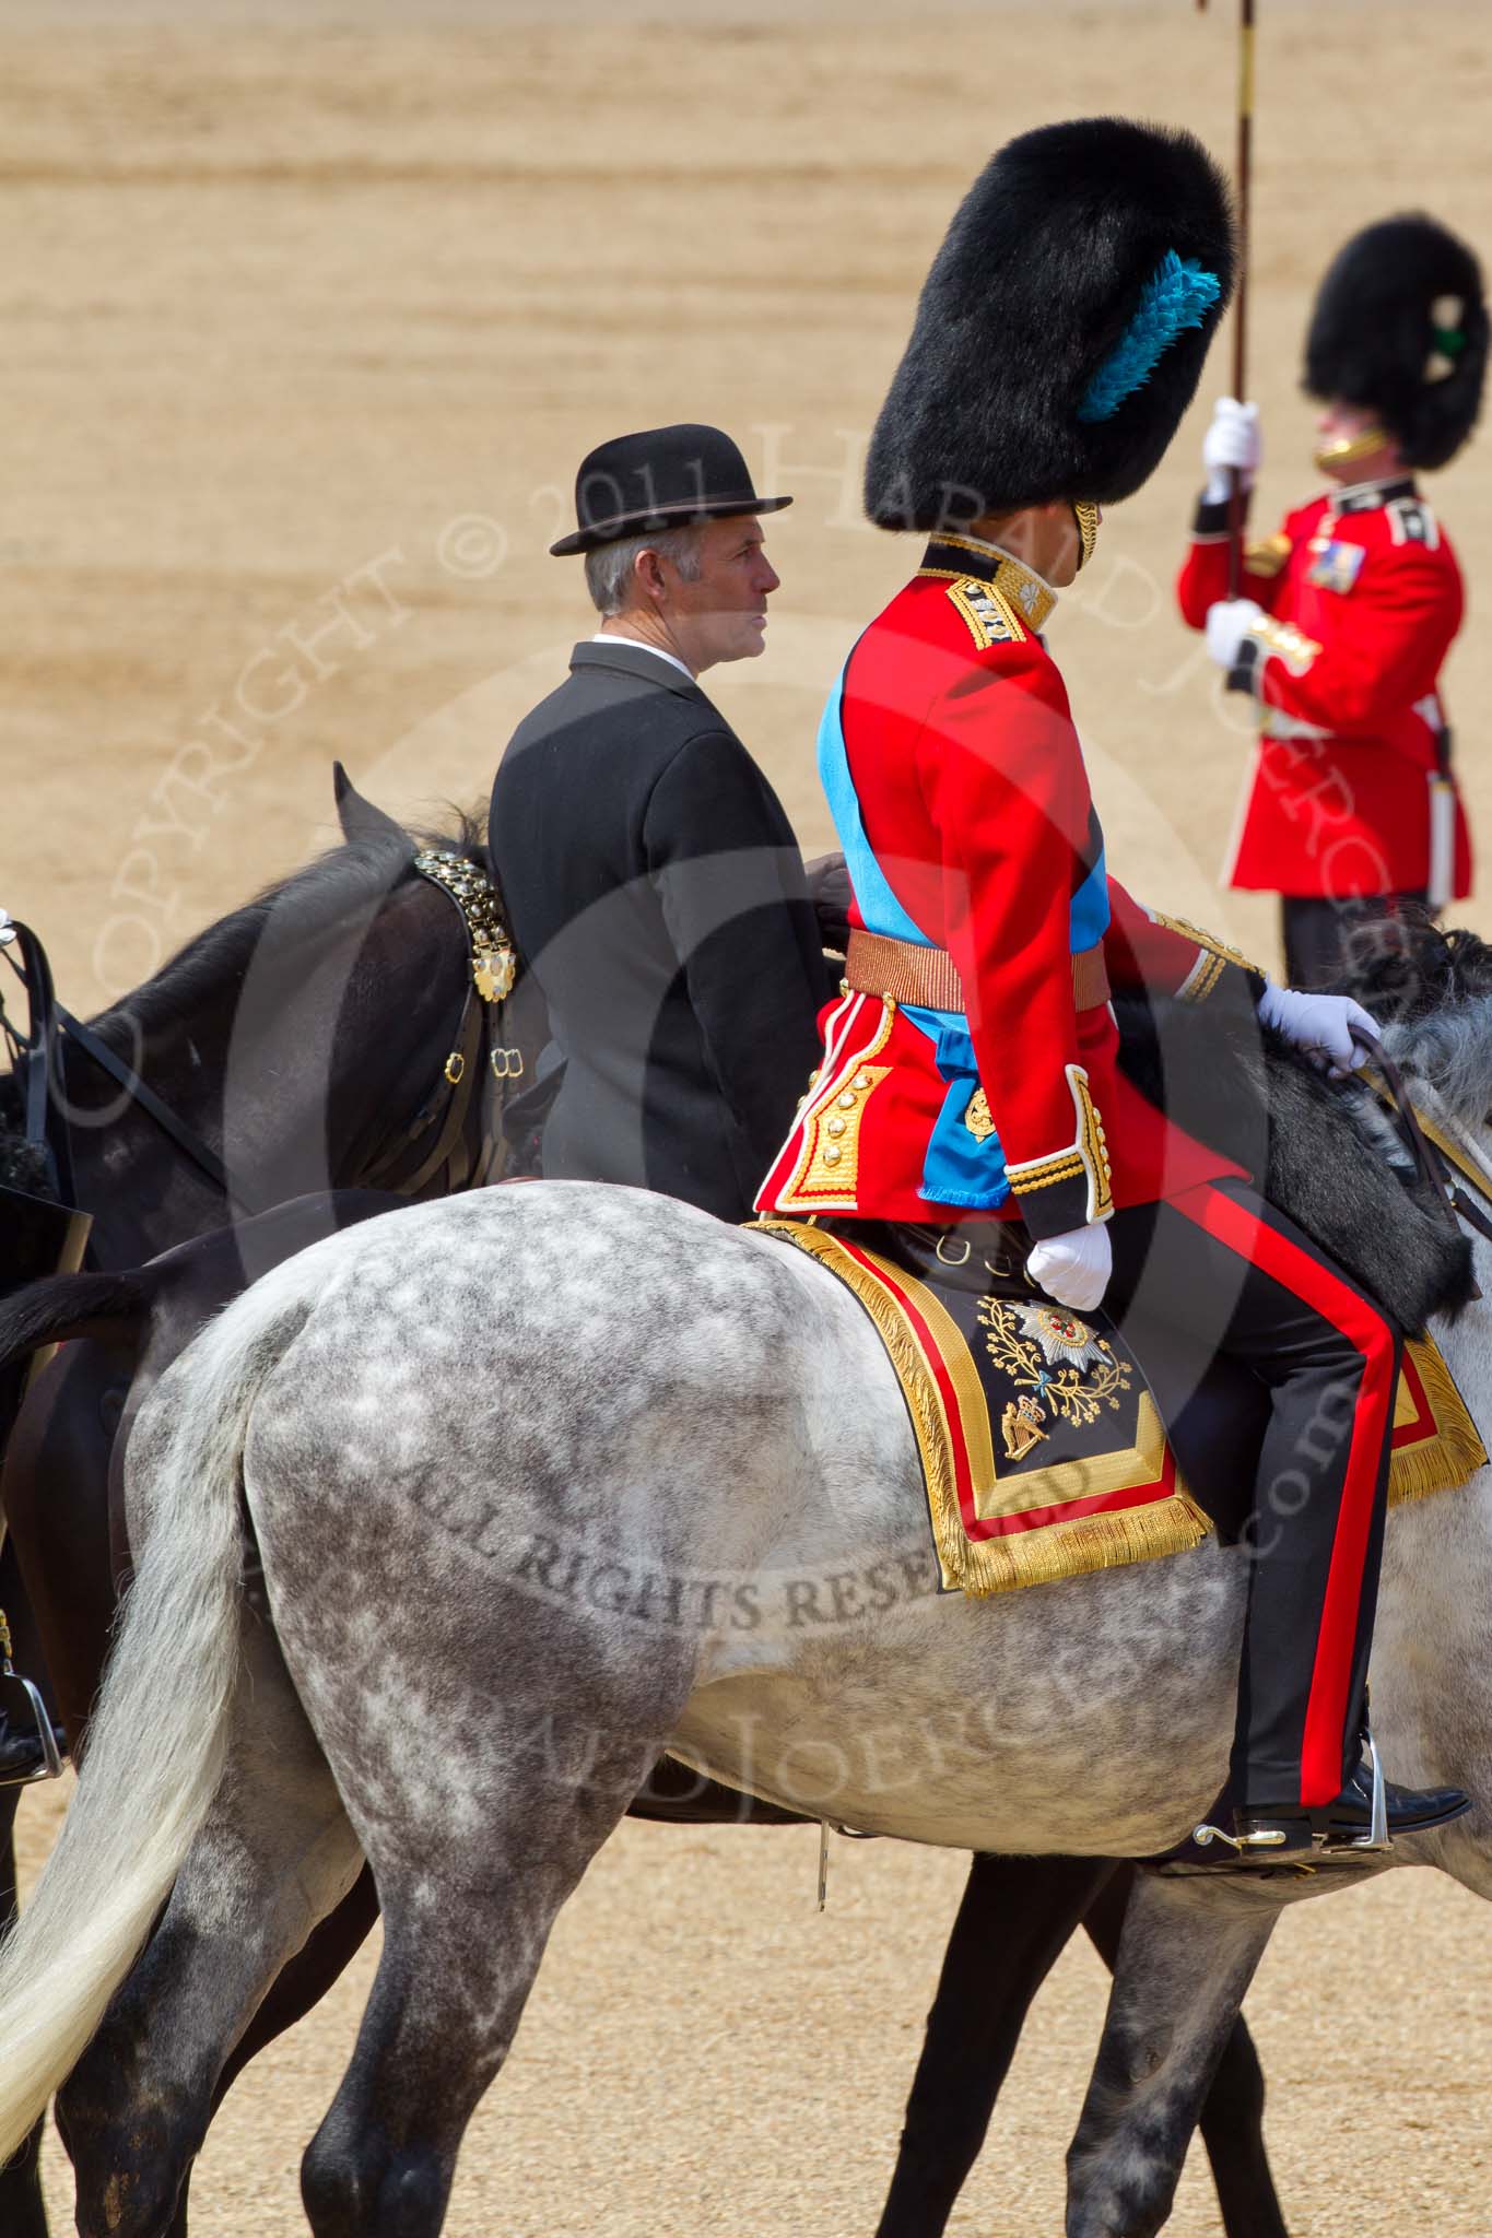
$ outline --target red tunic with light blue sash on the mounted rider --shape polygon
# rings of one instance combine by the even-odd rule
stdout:
[[[763,1213],[948,1222],[1020,1215],[1060,1235],[1114,1206],[1237,1173],[1118,1070],[1114,987],[1203,1000],[1244,967],[1141,909],[1103,833],[1056,662],[1054,593],[973,537],[942,537],[854,645],[819,739],[852,922],[944,949],[964,1009],[841,994],[823,1065],[758,1195]],[[1246,969],[1246,967],[1244,967]]]

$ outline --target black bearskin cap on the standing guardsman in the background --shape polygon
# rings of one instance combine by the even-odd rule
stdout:
[[[1338,251],[1306,336],[1313,396],[1380,414],[1405,466],[1445,466],[1481,412],[1481,264],[1434,217],[1385,217]]]

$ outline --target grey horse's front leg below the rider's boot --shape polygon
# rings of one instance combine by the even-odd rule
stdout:
[[[1067,2153],[1067,2238],[1154,2238],[1286,1891],[1139,1873]]]

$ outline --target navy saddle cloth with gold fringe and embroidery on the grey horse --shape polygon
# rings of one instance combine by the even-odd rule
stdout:
[[[763,1220],[758,1233],[821,1260],[870,1314],[917,1439],[944,1591],[1056,1585],[1244,1526],[1264,1385],[1226,1358],[1199,1376],[1134,1314],[1121,1334],[1103,1311],[1054,1305],[1024,1280],[1024,1231]],[[1409,1338],[1389,1504],[1452,1491],[1485,1459],[1434,1338]]]

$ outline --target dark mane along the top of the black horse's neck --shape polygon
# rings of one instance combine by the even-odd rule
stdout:
[[[378,895],[409,884],[418,875],[414,868],[416,848],[461,855],[463,862],[472,862],[485,873],[488,850],[481,815],[452,808],[450,817],[454,833],[400,830],[385,819],[385,830],[362,830],[356,839],[329,848],[304,868],[264,886],[217,924],[195,933],[143,987],[121,996],[110,1009],[89,1018],[89,1025],[101,1041],[134,1061],[141,1038],[190,1016],[204,1000],[244,978],[271,911],[280,929],[311,938],[358,913]],[[45,1191],[45,1159],[25,1139],[20,1085],[9,1072],[0,1074],[0,1186],[4,1184]]]

